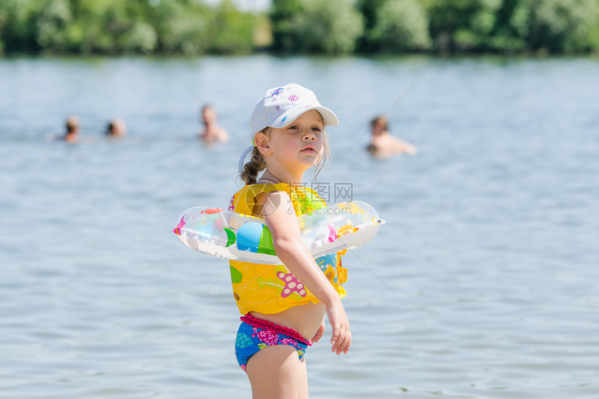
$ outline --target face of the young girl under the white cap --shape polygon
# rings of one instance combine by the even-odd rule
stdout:
[[[304,173],[316,166],[324,152],[324,129],[325,123],[316,109],[304,112],[286,127],[271,127],[268,136],[264,134],[267,164],[292,173]]]

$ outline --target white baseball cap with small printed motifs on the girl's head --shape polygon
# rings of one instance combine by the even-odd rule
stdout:
[[[339,125],[339,118],[334,112],[322,107],[308,88],[295,83],[270,88],[256,104],[254,114],[251,114],[251,136],[253,138],[265,127],[285,127],[311,109],[320,112],[325,126]]]

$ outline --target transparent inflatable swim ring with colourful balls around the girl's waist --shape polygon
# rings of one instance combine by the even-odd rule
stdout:
[[[314,258],[357,248],[384,224],[371,205],[343,202],[297,218],[302,242]],[[219,258],[280,265],[263,219],[219,208],[194,207],[181,214],[173,230],[191,249]]]

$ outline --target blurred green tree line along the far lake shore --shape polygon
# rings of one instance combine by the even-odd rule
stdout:
[[[0,54],[599,52],[599,0],[1,0]]]

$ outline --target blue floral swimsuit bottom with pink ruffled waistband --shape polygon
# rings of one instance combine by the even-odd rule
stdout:
[[[295,347],[299,359],[312,343],[302,337],[294,329],[279,326],[267,320],[254,318],[252,315],[241,317],[242,323],[235,338],[235,356],[239,366],[247,373],[247,361],[258,351],[271,345],[290,345]]]

